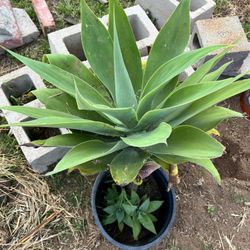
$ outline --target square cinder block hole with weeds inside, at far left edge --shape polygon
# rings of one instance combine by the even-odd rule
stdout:
[[[5,96],[12,105],[23,105],[36,99],[30,91],[36,89],[29,75],[21,75],[2,84]]]

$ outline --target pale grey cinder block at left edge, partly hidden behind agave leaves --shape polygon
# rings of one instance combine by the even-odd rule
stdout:
[[[17,98],[27,91],[38,88],[45,88],[42,79],[27,67],[4,75],[0,77],[0,106],[11,105],[11,95]],[[33,100],[24,104],[24,106],[43,107],[38,100]],[[3,114],[8,123],[31,119],[27,116],[6,110],[3,111]],[[50,135],[69,133],[67,129],[41,128],[38,131],[37,128],[11,127],[11,132],[14,134],[29,165],[39,173],[46,172],[51,165],[59,161],[68,151],[65,148],[22,146],[23,144],[30,143],[32,140],[45,139]]]

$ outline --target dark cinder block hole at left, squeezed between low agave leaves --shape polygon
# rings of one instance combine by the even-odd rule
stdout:
[[[22,122],[31,121],[31,118],[26,118]],[[61,131],[58,128],[38,128],[38,127],[23,127],[27,136],[31,141],[45,140],[51,136],[60,135]]]

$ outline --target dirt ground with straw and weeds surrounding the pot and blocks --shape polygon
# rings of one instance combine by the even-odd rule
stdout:
[[[49,1],[57,15],[55,2],[58,1]],[[237,14],[249,27],[249,0],[216,2],[216,16]],[[17,51],[40,59],[49,49],[41,36]],[[0,61],[0,75],[21,66],[9,56],[0,57]],[[222,105],[240,111],[239,96]],[[218,186],[197,166],[180,166],[176,222],[155,250],[250,249],[250,121],[232,119],[220,124],[218,130],[218,139],[227,148],[225,155],[214,162],[222,185]],[[0,193],[0,249],[115,249],[102,238],[92,221],[89,197],[94,177],[75,173],[45,179],[33,173],[6,130],[0,131],[0,166],[0,191],[5,192]],[[51,219],[58,211],[60,214]]]

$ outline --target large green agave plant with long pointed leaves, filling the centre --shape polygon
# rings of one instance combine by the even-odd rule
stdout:
[[[94,174],[108,167],[116,183],[128,184],[148,162],[170,169],[173,176],[177,164],[192,162],[220,182],[211,159],[220,157],[224,147],[209,131],[223,119],[243,115],[216,104],[250,88],[250,80],[239,80],[242,75],[218,80],[228,63],[211,72],[230,46],[185,52],[190,0],[182,0],[143,68],[125,12],[117,0],[109,4],[107,29],[81,1],[81,40],[90,69],[73,55],[49,54],[39,62],[9,51],[54,86],[33,91],[45,108],[2,107],[33,118],[10,125],[71,130],[33,142],[69,148],[48,174],[74,168]],[[187,67],[217,50],[217,56],[179,82]]]

